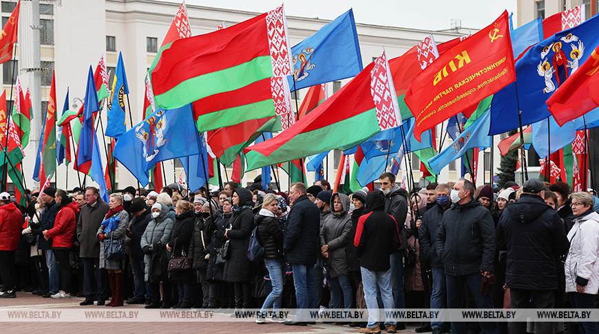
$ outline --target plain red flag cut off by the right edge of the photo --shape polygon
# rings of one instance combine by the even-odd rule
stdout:
[[[547,99],[549,111],[560,126],[599,107],[599,92],[596,89],[599,85],[598,69],[599,46],[593,50],[585,63],[582,63]]]

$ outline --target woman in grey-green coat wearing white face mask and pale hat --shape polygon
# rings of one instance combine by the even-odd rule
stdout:
[[[160,281],[164,296],[162,308],[170,307],[170,288],[168,280],[167,265],[169,256],[166,254],[165,245],[170,241],[173,221],[169,218],[169,207],[162,203],[155,203],[151,208],[152,220],[148,223],[140,246],[144,252],[143,262],[145,265],[145,281],[150,283],[152,290],[151,304],[146,309],[158,309],[160,307]]]

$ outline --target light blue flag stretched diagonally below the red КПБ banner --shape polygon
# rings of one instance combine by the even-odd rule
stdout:
[[[491,137],[488,135],[490,120],[490,111],[487,110],[456,138],[452,146],[445,148],[441,153],[428,160],[428,165],[434,173],[439,175],[443,167],[459,159],[470,148],[491,146]]]

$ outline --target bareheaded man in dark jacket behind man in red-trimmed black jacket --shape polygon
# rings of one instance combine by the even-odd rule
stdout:
[[[401,244],[397,252],[391,254],[391,280],[393,284],[393,302],[396,309],[405,309],[406,300],[403,291],[403,249],[408,248],[408,234],[404,223],[408,215],[408,192],[395,184],[395,175],[390,172],[383,172],[379,177],[381,190],[385,194],[385,212],[390,214],[397,221],[399,227],[399,237]],[[399,324],[398,329],[404,329],[403,324]]]

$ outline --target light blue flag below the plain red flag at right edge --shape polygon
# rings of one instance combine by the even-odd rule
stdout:
[[[563,126],[559,126],[553,116],[533,123],[532,146],[538,157],[547,157],[547,155],[574,142],[576,131],[585,129],[585,121],[587,122],[587,129],[595,127],[596,122],[599,121],[599,108],[593,109],[575,120],[566,122]],[[547,124],[549,124],[549,131],[547,131]],[[548,139],[549,135],[551,137]],[[551,145],[551,152],[549,152],[549,145]]]

